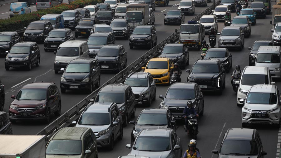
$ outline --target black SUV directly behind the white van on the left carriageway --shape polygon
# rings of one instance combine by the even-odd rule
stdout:
[[[47,35],[46,35],[47,36]],[[65,41],[75,40],[73,32],[68,28],[54,29],[50,31],[44,40],[45,51],[57,51],[60,44]]]

